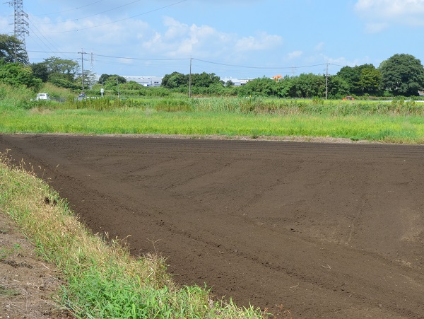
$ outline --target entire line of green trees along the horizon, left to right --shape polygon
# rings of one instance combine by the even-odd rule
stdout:
[[[82,76],[84,79],[82,79]],[[126,82],[117,74],[102,74],[98,81],[90,71],[80,72],[78,62],[71,59],[49,57],[43,62],[30,64],[25,47],[16,37],[0,34],[0,82],[12,86],[28,86],[37,91],[42,83],[81,90],[82,81],[86,87],[98,89],[100,83],[105,90],[146,91],[141,84]],[[203,72],[182,74],[172,72],[163,77],[163,89],[194,95],[242,95],[272,96],[276,98],[343,98],[354,96],[414,96],[424,90],[424,67],[420,60],[411,54],[394,54],[377,68],[372,64],[344,66],[337,74],[300,74],[269,79],[266,76],[252,79],[243,86],[224,83],[219,76]],[[156,88],[155,88],[156,89]],[[100,91],[100,90],[99,90]]]

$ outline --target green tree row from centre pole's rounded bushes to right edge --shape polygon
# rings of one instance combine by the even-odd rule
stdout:
[[[192,87],[214,88],[225,93],[233,83],[223,83],[215,74],[192,74]],[[186,89],[189,74],[167,74],[162,86],[170,89]],[[343,66],[335,75],[300,74],[270,79],[266,76],[252,79],[237,88],[238,95],[261,95],[277,98],[343,98],[353,96],[414,96],[424,90],[424,67],[411,54],[394,54],[378,68],[373,64]],[[199,90],[201,91],[201,90]]]

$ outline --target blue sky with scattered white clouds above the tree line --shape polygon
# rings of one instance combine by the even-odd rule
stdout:
[[[11,35],[13,7],[0,9]],[[23,10],[30,62],[81,63],[83,50],[99,75],[188,74],[191,57],[193,73],[232,78],[424,60],[424,0],[23,0]]]

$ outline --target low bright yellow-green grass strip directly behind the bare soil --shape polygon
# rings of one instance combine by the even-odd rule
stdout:
[[[156,101],[157,102],[157,101]],[[153,103],[150,101],[150,103]],[[164,103],[160,108],[170,108]],[[372,103],[372,102],[371,102]],[[390,104],[390,103],[389,103]],[[164,106],[165,105],[165,106]],[[306,105],[306,104],[305,104]],[[309,104],[312,107],[312,104]],[[183,104],[182,108],[188,108]],[[219,106],[218,106],[219,108]],[[335,112],[336,109],[333,109]],[[308,111],[310,112],[310,111]],[[424,142],[422,115],[328,115],[185,110],[154,108],[0,109],[1,133],[184,134],[224,136],[341,137],[408,144]]]

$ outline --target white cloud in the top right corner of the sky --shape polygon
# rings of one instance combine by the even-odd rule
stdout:
[[[358,0],[355,11],[368,21],[370,33],[380,32],[389,24],[424,25],[424,0]]]

